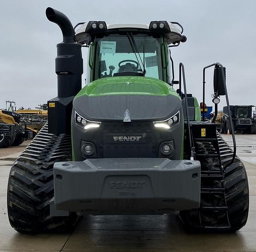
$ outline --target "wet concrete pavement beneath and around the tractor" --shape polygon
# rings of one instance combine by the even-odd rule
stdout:
[[[224,139],[232,146],[231,135]],[[250,210],[246,226],[233,234],[186,234],[177,216],[86,216],[72,233],[19,234],[6,210],[10,167],[18,154],[0,158],[0,252],[3,251],[256,251],[256,135],[236,135],[246,166]],[[4,159],[4,160],[1,160]]]

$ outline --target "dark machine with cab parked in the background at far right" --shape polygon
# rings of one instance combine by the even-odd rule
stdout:
[[[254,108],[254,111],[252,110]],[[234,125],[234,131],[242,133],[256,134],[256,115],[255,107],[253,105],[230,105],[231,122]],[[221,133],[231,133],[230,120],[228,115],[228,108],[223,107],[222,122],[220,126]]]

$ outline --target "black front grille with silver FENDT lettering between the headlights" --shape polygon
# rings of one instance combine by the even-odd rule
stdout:
[[[158,157],[162,135],[152,122],[102,123],[94,135],[99,158]]]

